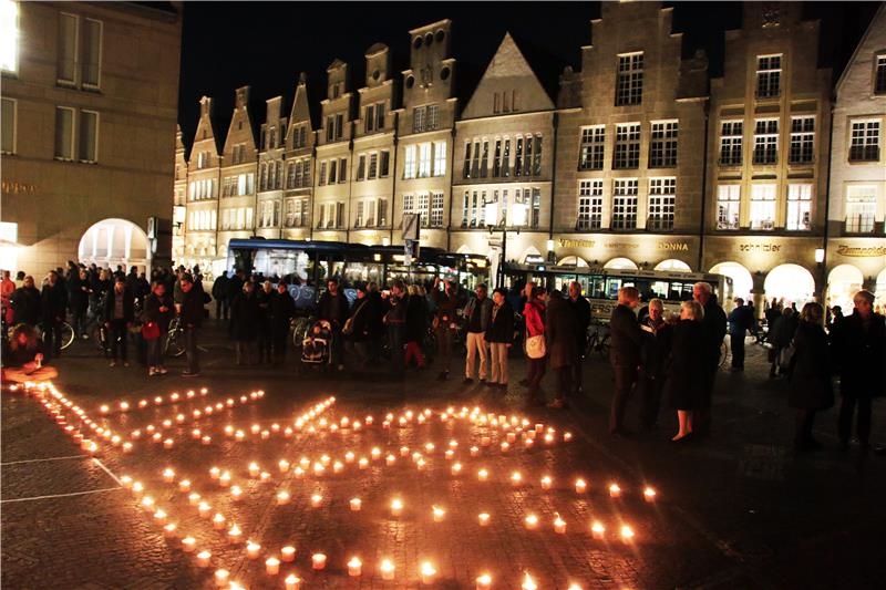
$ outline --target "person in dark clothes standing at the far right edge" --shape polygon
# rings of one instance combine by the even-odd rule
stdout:
[[[855,407],[858,414],[855,435],[867,451],[870,446],[870,415],[874,397],[884,395],[886,379],[886,324],[874,311],[874,293],[866,290],[853,298],[855,309],[834,331],[834,351],[839,366],[839,406],[837,434],[841,449],[848,448]]]

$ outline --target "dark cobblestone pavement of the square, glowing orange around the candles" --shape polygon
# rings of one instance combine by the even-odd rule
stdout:
[[[749,345],[745,372],[719,375],[711,438],[674,445],[669,410],[655,433],[606,433],[612,385],[598,358],[585,362],[585,395],[550,411],[524,407],[519,360],[505,394],[463,385],[461,375],[439,382],[433,370],[394,381],[381,368],[353,375],[297,373],[295,361],[233,366],[220,330],[210,327],[204,341],[198,379],[178,376],[181,361],[152,379],[137,363],[110,369],[75,343],[58,362],[56,395],[3,392],[4,588],[214,588],[219,569],[248,588],[286,588],[297,575],[308,589],[467,589],[484,573],[501,589],[528,588],[527,575],[539,589],[874,588],[886,573],[886,458],[837,452],[835,410],[816,423],[826,448],[793,456],[785,384],[766,379],[759,346]],[[553,389],[550,375],[546,382]],[[629,407],[631,422],[637,410]],[[875,412],[883,442],[886,411]],[[94,456],[74,432],[95,442]],[[164,476],[167,468],[174,474]],[[647,486],[655,501],[645,500]],[[445,514],[435,518],[433,507]],[[174,534],[164,530],[171,522]],[[594,522],[605,527],[601,538]],[[183,549],[184,537],[194,551]],[[258,558],[247,540],[260,545]],[[281,559],[285,546],[295,547],[293,561],[268,575],[266,559]],[[210,553],[206,567],[202,551]],[[327,556],[323,570],[312,569],[317,552]],[[359,577],[349,576],[353,557]],[[380,572],[384,559],[393,580]],[[433,586],[423,583],[425,561],[436,570]]]

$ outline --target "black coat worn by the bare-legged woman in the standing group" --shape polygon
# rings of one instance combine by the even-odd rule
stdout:
[[[663,395],[674,410],[696,410],[704,394],[699,343],[704,342],[705,335],[704,325],[696,320],[680,320],[673,327]]]

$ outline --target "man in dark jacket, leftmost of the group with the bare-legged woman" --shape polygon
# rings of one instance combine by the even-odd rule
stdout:
[[[616,393],[609,412],[609,433],[615,435],[630,434],[624,422],[628,397],[637,383],[643,343],[643,331],[633,314],[639,304],[640,291],[636,287],[622,287],[618,290],[618,306],[609,320],[609,362],[616,380]]]

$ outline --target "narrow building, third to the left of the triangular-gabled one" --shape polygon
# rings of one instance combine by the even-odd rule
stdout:
[[[353,93],[347,63],[334,60],[326,72],[327,97],[320,102],[321,127],[315,155],[313,238],[348,241]]]

